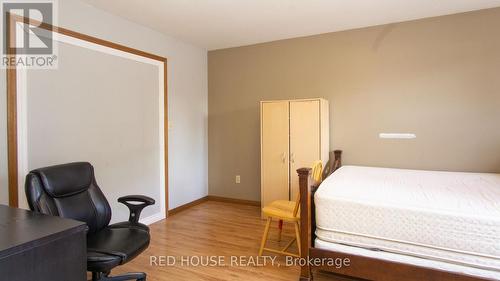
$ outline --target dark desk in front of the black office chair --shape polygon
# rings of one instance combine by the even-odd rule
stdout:
[[[0,205],[0,280],[84,281],[84,223]]]

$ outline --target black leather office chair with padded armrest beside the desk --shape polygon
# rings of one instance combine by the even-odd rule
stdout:
[[[149,228],[139,223],[139,215],[155,203],[152,198],[119,198],[130,209],[129,220],[109,225],[111,208],[97,186],[94,168],[86,162],[33,170],[26,176],[25,188],[32,211],[87,223],[87,270],[93,281],[146,280],[143,272],[113,277],[109,273],[148,247]]]

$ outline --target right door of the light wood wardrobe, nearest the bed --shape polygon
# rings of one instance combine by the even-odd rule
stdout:
[[[290,200],[299,192],[297,169],[321,160],[320,126],[319,100],[290,102]]]

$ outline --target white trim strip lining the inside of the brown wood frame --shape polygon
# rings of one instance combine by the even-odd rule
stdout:
[[[155,221],[165,218],[166,207],[165,207],[165,107],[164,107],[164,85],[165,75],[164,75],[164,62],[143,57],[140,55],[132,54],[122,50],[106,47],[75,37],[67,36],[57,32],[53,33],[53,40],[71,44],[73,46],[79,46],[82,48],[98,51],[101,53],[118,56],[121,58],[126,58],[142,63],[151,64],[158,67],[158,101],[159,101],[159,146],[160,146],[160,165],[159,165],[159,183],[160,183],[160,212],[156,213],[150,217],[144,218],[142,221],[148,222],[145,224],[153,223]],[[27,71],[25,68],[17,68],[17,133],[18,133],[18,198],[19,207],[28,209],[28,203],[26,201],[26,196],[24,193],[24,180],[26,175],[29,173],[28,169],[28,132],[27,132]]]

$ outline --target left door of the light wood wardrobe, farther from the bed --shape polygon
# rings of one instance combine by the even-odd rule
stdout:
[[[261,204],[288,200],[288,101],[261,103]]]

